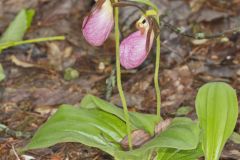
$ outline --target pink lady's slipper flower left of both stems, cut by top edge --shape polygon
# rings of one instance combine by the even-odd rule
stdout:
[[[82,32],[93,46],[101,46],[113,28],[113,7],[110,0],[95,0],[96,5],[84,18]]]

